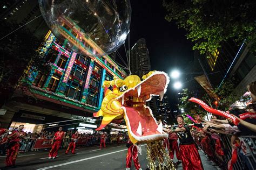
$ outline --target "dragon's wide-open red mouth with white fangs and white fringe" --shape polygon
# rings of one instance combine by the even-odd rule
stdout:
[[[146,101],[150,101],[152,95],[159,95],[162,100],[168,83],[169,77],[165,73],[156,72],[117,97],[122,101],[127,129],[139,142],[167,137],[162,124],[157,124],[152,110],[146,107]]]

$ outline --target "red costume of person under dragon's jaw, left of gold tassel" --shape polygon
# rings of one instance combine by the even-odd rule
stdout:
[[[127,142],[126,146],[128,148],[127,155],[126,155],[126,168],[131,168],[132,159],[133,159],[135,168],[139,169],[140,165],[139,165],[137,147],[134,146],[130,140]]]

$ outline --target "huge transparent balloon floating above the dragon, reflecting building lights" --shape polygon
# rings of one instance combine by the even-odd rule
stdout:
[[[129,0],[39,0],[39,6],[58,41],[80,54],[110,54],[130,32]]]

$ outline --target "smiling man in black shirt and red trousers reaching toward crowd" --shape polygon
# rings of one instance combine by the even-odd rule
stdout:
[[[190,128],[184,124],[184,118],[181,115],[177,116],[178,126],[170,133],[176,132],[180,141],[180,156],[184,170],[188,169],[204,169],[200,159],[197,147],[190,133]],[[194,124],[194,126],[199,126]],[[201,127],[200,127],[201,128]]]

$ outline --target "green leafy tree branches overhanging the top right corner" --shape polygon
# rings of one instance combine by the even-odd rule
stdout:
[[[256,1],[164,0],[165,19],[176,21],[201,54],[213,52],[232,39],[238,45],[246,39],[256,51]]]

